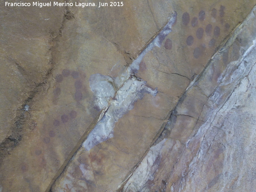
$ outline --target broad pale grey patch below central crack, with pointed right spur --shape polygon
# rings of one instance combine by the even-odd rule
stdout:
[[[116,92],[116,98],[111,102],[105,115],[83,142],[82,146],[85,150],[90,150],[95,145],[113,137],[115,123],[129,110],[132,110],[134,103],[142,99],[146,93],[156,96],[157,88],[148,87],[145,81],[140,81],[136,77],[124,82],[124,85]]]

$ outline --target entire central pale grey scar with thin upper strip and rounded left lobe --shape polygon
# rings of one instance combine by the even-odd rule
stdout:
[[[155,89],[149,87],[146,81],[136,77],[134,74],[138,73],[140,62],[147,52],[153,47],[160,47],[164,38],[172,31],[172,25],[175,23],[177,13],[175,12],[164,28],[156,35],[155,39],[148,44],[148,46],[140,53],[132,64],[126,68],[120,76],[115,78],[103,76],[101,74],[93,74],[90,76],[90,88],[95,93],[95,105],[104,109],[101,115],[102,118],[98,121],[94,129],[89,133],[87,139],[82,146],[86,150],[90,150],[95,145],[113,137],[113,129],[115,123],[129,110],[132,110],[134,103],[138,99],[142,99],[145,93],[153,96],[157,94],[157,87]],[[119,88],[116,92],[116,88]],[[111,98],[115,98],[111,100]],[[108,102],[111,100],[111,103]]]

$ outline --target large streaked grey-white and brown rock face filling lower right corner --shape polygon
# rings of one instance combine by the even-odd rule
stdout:
[[[255,10],[182,96],[122,191],[255,189]],[[237,39],[246,44],[234,58]]]

